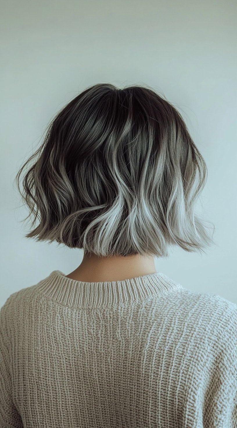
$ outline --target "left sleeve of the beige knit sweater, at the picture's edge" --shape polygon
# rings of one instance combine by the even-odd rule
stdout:
[[[23,428],[21,415],[12,398],[9,339],[7,335],[7,302],[0,309],[0,428]]]

